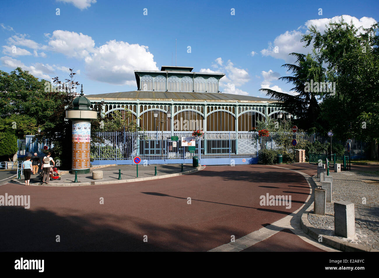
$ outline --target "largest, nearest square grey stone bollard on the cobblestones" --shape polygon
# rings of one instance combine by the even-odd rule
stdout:
[[[334,203],[334,233],[344,238],[355,235],[354,203],[345,201]]]

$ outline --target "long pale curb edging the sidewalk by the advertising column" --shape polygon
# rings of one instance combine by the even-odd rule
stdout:
[[[127,180],[110,180],[106,182],[78,182],[78,183],[49,183],[48,185],[46,184],[40,184],[38,183],[30,183],[30,185],[34,186],[53,186],[53,187],[68,187],[68,186],[91,186],[91,185],[103,185],[103,184],[114,184],[114,183],[126,183],[126,182],[141,182],[143,180],[157,180],[157,179],[164,179],[164,178],[169,178],[169,177],[177,177],[180,175],[186,175],[190,173],[194,173],[197,171],[201,171],[202,169],[205,169],[205,166],[198,166],[197,168],[194,168],[189,171],[185,172],[179,172],[175,174],[167,174],[167,175],[161,175],[161,176],[152,176],[152,177],[144,177],[144,178],[136,178],[136,179],[127,179]],[[13,182],[17,182],[20,184],[24,184],[19,182],[18,180],[11,180]]]

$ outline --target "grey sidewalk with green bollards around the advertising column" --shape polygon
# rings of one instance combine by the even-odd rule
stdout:
[[[163,175],[180,174],[181,164],[166,164],[166,165],[138,165],[138,179],[154,179],[157,178],[155,174],[155,166],[157,167],[157,177]],[[119,169],[121,169],[121,180],[119,177]],[[183,165],[184,172],[197,170],[191,164]],[[103,171],[102,179],[92,179],[93,171]],[[136,165],[116,165],[108,166],[105,168],[91,169],[89,174],[78,174],[78,181],[75,181],[75,174],[61,174],[61,180],[50,180],[47,186],[79,186],[79,185],[91,185],[91,184],[110,184],[119,182],[135,181],[137,179]],[[15,181],[15,180],[13,180]],[[24,183],[23,176],[17,182]],[[94,183],[95,182],[95,183]],[[41,185],[39,175],[32,175],[30,179],[30,185]],[[45,185],[45,184],[44,184]],[[46,185],[45,185],[46,186]]]

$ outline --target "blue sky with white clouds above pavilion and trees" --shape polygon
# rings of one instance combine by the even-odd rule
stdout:
[[[63,80],[67,68],[74,68],[87,95],[130,91],[136,89],[133,70],[160,70],[171,65],[171,53],[175,65],[177,39],[177,65],[226,73],[223,93],[265,97],[258,90],[268,87],[290,93],[291,84],[277,78],[290,74],[281,67],[294,62],[288,53],[310,51],[300,42],[307,26],[323,31],[330,19],[344,15],[368,27],[379,18],[378,3],[6,1],[0,11],[0,69],[20,66],[38,78]]]

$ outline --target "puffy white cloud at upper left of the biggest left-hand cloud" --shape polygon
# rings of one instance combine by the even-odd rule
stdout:
[[[89,53],[94,52],[95,41],[90,36],[82,33],[55,30],[49,39],[52,51],[62,53],[68,57],[84,58]]]

